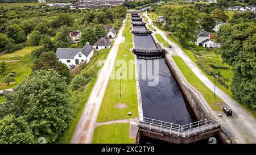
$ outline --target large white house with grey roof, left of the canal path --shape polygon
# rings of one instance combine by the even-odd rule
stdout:
[[[57,48],[56,56],[66,65],[81,64],[90,61],[94,53],[93,47],[86,43],[83,48]]]

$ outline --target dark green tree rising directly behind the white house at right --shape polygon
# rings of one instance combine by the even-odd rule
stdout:
[[[212,15],[206,14],[205,12],[201,13],[199,18],[199,23],[205,31],[212,31],[216,26],[216,22]]]

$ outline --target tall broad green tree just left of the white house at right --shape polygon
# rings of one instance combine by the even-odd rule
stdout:
[[[175,36],[179,39],[181,45],[186,45],[189,41],[195,41],[196,32],[199,30],[199,23],[197,23],[198,12],[188,7],[175,10],[171,17],[171,30],[174,31]]]

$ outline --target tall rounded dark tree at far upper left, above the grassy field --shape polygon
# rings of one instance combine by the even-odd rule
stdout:
[[[17,24],[7,27],[6,35],[13,39],[15,43],[22,43],[26,40],[26,34]]]

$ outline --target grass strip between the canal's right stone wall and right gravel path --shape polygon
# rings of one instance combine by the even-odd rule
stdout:
[[[221,110],[219,107],[216,106],[216,103],[224,102],[220,98],[218,98],[217,95],[216,98],[214,98],[214,93],[210,89],[208,89],[208,87],[205,86],[204,83],[192,72],[192,70],[187,66],[187,64],[183,61],[181,57],[172,56],[172,58],[174,59],[175,63],[177,64],[187,81],[203,94],[205,100],[207,100],[210,107],[212,107],[213,110]]]

